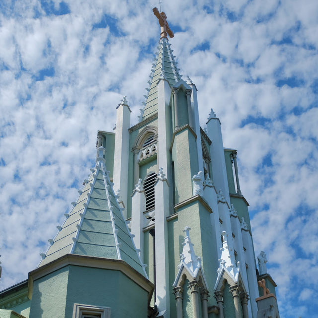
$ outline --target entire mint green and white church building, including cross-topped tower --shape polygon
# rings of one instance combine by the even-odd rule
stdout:
[[[139,122],[124,97],[114,132],[28,279],[0,318],[279,318],[266,255],[256,263],[237,151],[179,74],[166,16]]]

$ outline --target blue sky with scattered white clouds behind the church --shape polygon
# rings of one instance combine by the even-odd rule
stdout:
[[[0,2],[3,288],[40,261],[123,95],[137,122],[159,40],[157,2]],[[238,149],[255,252],[267,253],[281,317],[315,317],[318,1],[162,2],[202,127],[212,107],[224,146]]]

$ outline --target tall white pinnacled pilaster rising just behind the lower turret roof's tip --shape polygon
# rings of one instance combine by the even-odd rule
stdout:
[[[124,206],[127,207],[128,191],[128,157],[129,157],[129,132],[131,110],[127,105],[126,97],[117,106],[116,134],[114,150],[114,190],[120,189]],[[127,217],[127,211],[123,211]]]

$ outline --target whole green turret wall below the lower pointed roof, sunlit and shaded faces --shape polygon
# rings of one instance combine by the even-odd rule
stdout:
[[[147,317],[147,292],[120,271],[69,265],[34,281],[30,318],[70,318],[74,303]]]

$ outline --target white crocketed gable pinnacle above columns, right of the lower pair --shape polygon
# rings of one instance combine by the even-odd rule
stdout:
[[[217,289],[218,283],[223,276],[223,272],[226,271],[227,274],[233,279],[234,282],[238,282],[239,272],[240,272],[240,263],[239,261],[235,264],[234,257],[232,255],[232,248],[228,245],[228,235],[226,231],[222,233],[223,243],[221,250],[221,258],[219,259],[219,268],[217,269],[218,277],[214,286],[214,290]]]

